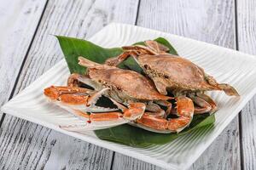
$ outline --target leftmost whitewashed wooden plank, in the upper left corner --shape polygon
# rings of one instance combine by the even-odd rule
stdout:
[[[46,0],[0,0],[0,106],[14,88]],[[0,111],[0,118],[3,113]]]

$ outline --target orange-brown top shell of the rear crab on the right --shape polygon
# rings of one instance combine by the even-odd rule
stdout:
[[[212,86],[206,81],[203,69],[188,59],[171,54],[146,54],[138,57],[138,62],[149,77],[162,77],[163,83],[171,83],[173,88],[219,90],[217,86]]]

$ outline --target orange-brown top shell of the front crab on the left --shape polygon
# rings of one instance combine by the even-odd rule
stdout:
[[[88,76],[93,82],[110,88],[108,95],[118,102],[171,99],[159,94],[154,83],[135,71],[108,68],[90,68]]]

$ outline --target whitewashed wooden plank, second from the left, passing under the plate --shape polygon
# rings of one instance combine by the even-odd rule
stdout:
[[[49,1],[15,94],[63,58],[50,34],[84,38],[112,21],[134,24],[137,4],[137,0]],[[13,116],[3,121],[0,153],[0,169],[109,169],[113,156],[113,151]]]

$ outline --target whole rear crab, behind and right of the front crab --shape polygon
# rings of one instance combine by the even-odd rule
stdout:
[[[194,114],[217,110],[215,102],[204,92],[222,90],[227,95],[239,96],[236,89],[226,83],[218,83],[213,77],[189,59],[168,54],[169,48],[148,40],[143,45],[123,47],[124,53],[106,60],[107,65],[119,65],[132,56],[143,72],[153,82],[160,94],[171,90],[175,97],[187,96],[195,104]]]

